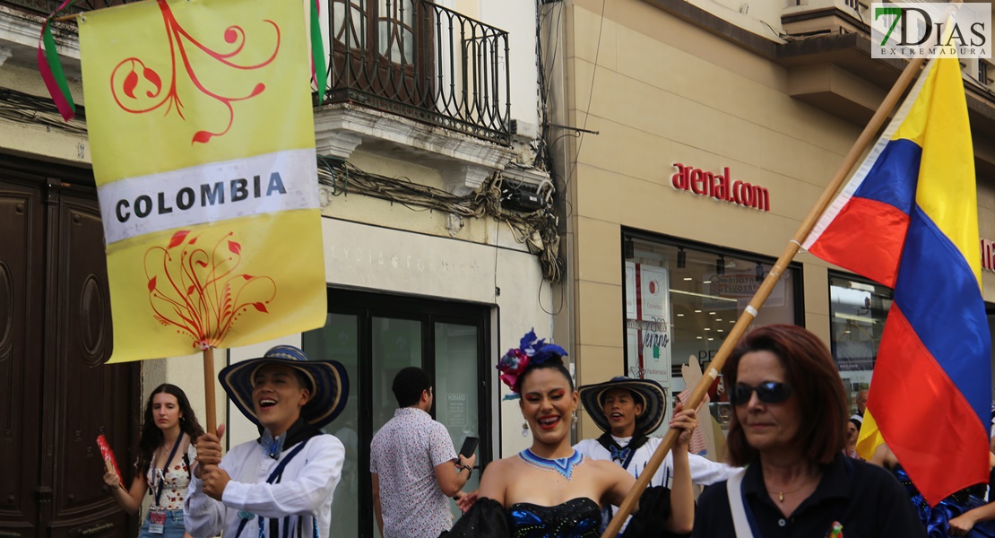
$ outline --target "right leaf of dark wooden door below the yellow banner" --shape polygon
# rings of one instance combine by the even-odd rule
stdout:
[[[46,338],[47,375],[43,392],[58,397],[42,403],[42,481],[53,484],[51,506],[42,512],[52,537],[115,536],[126,515],[103,486],[100,449],[105,434],[124,441],[133,413],[127,365],[102,363],[110,356],[110,295],[100,210],[93,192],[49,187],[46,326],[59,327]],[[127,457],[124,447],[116,453]],[[120,458],[118,458],[120,459]],[[127,461],[124,470],[130,470]]]

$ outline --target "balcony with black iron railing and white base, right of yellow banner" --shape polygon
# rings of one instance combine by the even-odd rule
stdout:
[[[327,0],[318,152],[415,157],[467,193],[514,156],[506,32],[424,0]]]

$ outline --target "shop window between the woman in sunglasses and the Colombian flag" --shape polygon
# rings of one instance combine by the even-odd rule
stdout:
[[[892,288],[852,275],[829,275],[830,338],[833,359],[851,402],[871,384]],[[856,412],[856,404],[852,404]]]

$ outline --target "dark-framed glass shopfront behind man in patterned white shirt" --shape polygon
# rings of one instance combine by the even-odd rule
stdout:
[[[492,457],[491,395],[494,368],[487,306],[331,289],[322,328],[302,336],[312,360],[341,362],[349,377],[345,410],[325,428],[345,446],[342,477],[334,492],[332,529],[322,536],[377,537],[370,482],[370,442],[394,416],[391,391],[402,368],[419,366],[435,380],[432,416],[449,430],[455,448],[480,438],[478,468],[467,491],[478,486]],[[451,503],[454,517],[460,511]]]

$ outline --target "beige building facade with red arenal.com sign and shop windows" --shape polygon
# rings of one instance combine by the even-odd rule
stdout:
[[[871,58],[864,2],[576,0],[543,8],[560,21],[543,29],[553,41],[547,50],[562,36],[561,55],[544,69],[555,82],[554,122],[568,126],[553,131],[563,135],[554,176],[571,209],[572,301],[557,325],[572,327],[579,383],[647,376],[677,394],[686,386],[682,367],[714,357],[904,62]],[[988,61],[962,65],[980,235],[991,238],[995,92]],[[985,266],[992,304],[995,274]],[[817,333],[855,395],[870,383],[891,297],[802,252],[754,324]],[[716,434],[727,406],[711,406]],[[585,418],[579,437],[596,435]]]

